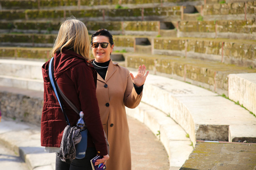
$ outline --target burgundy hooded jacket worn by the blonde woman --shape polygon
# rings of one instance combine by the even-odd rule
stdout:
[[[44,106],[41,120],[41,146],[60,147],[65,117],[55,97],[49,78],[49,64],[42,66],[44,79]],[[54,56],[54,77],[65,96],[84,112],[88,129],[87,147],[94,147],[99,155],[107,155],[107,145],[100,120],[96,97],[97,72],[91,63],[72,50],[63,49]],[[79,115],[63,100],[71,126],[75,126]]]

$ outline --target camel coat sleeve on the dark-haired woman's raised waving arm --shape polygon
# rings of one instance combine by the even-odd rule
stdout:
[[[135,88],[133,87],[132,78],[128,70],[126,82],[127,84],[124,94],[124,105],[128,108],[135,108],[140,104],[142,92],[140,93],[140,95],[137,94]]]

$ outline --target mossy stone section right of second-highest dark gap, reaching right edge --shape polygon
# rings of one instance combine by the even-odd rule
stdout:
[[[256,39],[255,20],[180,21],[178,37]]]

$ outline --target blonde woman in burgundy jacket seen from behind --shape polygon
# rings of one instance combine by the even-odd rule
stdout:
[[[105,164],[109,159],[96,97],[97,72],[88,62],[89,48],[89,35],[84,23],[75,18],[63,21],[51,54],[54,57],[54,77],[65,96],[79,111],[84,112],[89,132],[85,158],[66,163],[56,156],[56,170],[92,169],[90,160],[97,154],[103,156],[97,164]],[[49,61],[42,66],[44,106],[41,145],[46,152],[59,152],[63,130],[67,124],[51,87],[48,69]],[[68,104],[64,105],[70,125],[75,126],[78,114]]]

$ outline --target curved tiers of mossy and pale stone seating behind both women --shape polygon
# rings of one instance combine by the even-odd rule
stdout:
[[[65,17],[76,16],[89,33],[108,29],[113,60],[157,75],[127,114],[162,141],[171,167],[181,167],[190,142],[256,142],[255,13],[251,0],[0,0],[0,86],[43,91],[40,67]],[[179,133],[171,131],[177,125]],[[174,142],[188,152],[173,155]]]

